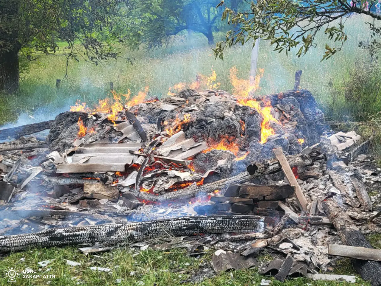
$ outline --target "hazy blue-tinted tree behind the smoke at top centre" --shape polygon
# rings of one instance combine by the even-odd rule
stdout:
[[[210,45],[214,44],[213,32],[221,28],[222,11],[217,10],[219,0],[136,0],[134,18],[141,28],[141,41],[155,47],[171,35],[183,30],[192,30],[205,35]],[[236,11],[243,0],[229,0],[232,11]]]

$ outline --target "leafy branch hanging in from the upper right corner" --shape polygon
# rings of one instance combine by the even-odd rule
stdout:
[[[275,51],[288,52],[296,49],[296,55],[305,55],[311,47],[315,47],[315,37],[322,30],[327,35],[327,40],[333,42],[334,47],[325,45],[323,59],[328,59],[340,51],[347,35],[344,32],[345,20],[353,14],[366,14],[373,19],[381,19],[376,14],[376,1],[352,0],[258,0],[252,2],[247,11],[233,11],[224,1],[217,8],[224,7],[222,21],[234,26],[227,32],[226,40],[218,42],[213,49],[215,57],[223,59],[226,47],[237,43],[244,44],[248,40],[259,37],[269,40]],[[373,25],[373,26],[372,26]],[[381,35],[381,30],[370,23],[374,39]],[[255,41],[254,41],[255,42]],[[373,47],[381,48],[376,43]]]

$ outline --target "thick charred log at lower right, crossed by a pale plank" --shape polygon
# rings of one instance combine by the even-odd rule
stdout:
[[[342,204],[342,199],[338,194],[334,194],[322,202],[323,209],[333,223],[333,226],[338,231],[343,244],[374,250],[374,247],[371,246],[365,236],[360,232],[359,228],[354,225],[350,217],[346,214],[346,209],[340,206],[340,204]],[[381,273],[380,262],[352,259],[352,264],[364,280],[371,281],[372,285],[381,284],[381,275],[379,275],[379,273]]]

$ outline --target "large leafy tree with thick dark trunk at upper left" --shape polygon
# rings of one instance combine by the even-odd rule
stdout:
[[[112,47],[124,29],[122,0],[0,0],[0,90],[19,87],[18,55],[56,53],[95,64],[115,58]],[[123,5],[125,5],[123,1]]]

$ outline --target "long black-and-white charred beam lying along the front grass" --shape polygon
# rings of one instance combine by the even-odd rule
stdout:
[[[0,253],[22,251],[29,247],[66,246],[83,243],[114,245],[144,241],[160,236],[197,233],[262,232],[264,218],[256,215],[180,217],[176,219],[127,224],[55,228],[38,233],[0,236]]]

